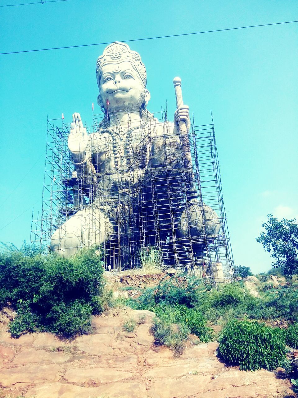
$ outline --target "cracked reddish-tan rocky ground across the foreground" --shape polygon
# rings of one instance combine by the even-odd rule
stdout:
[[[293,394],[265,370],[242,372],[216,356],[217,342],[194,336],[180,357],[156,346],[154,314],[128,307],[93,318],[93,334],[72,341],[51,334],[0,335],[0,396],[31,398],[252,398]],[[124,332],[127,318],[140,324]],[[143,322],[143,323],[141,323]],[[194,344],[196,343],[196,344]],[[197,344],[199,343],[199,344]]]

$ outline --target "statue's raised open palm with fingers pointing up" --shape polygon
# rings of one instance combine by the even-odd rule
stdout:
[[[81,116],[79,113],[74,113],[72,115],[72,123],[70,124],[68,149],[70,150],[75,162],[82,162],[84,160],[87,145],[88,135],[86,129],[83,127]]]

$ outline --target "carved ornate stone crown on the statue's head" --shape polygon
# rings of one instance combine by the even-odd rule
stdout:
[[[118,64],[121,61],[129,61],[134,64],[144,86],[147,84],[147,74],[145,65],[141,61],[139,53],[131,51],[129,46],[125,43],[112,43],[108,45],[103,52],[103,55],[98,57],[96,62],[96,77],[97,84],[99,85],[101,68],[105,64]]]

